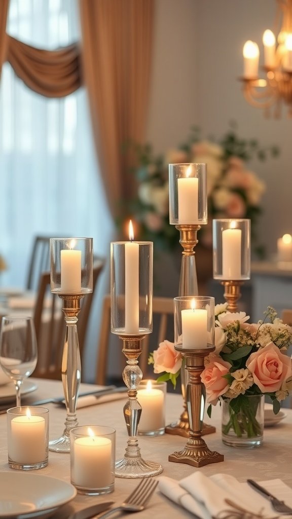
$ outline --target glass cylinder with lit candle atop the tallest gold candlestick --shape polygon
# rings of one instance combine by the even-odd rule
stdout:
[[[169,223],[207,223],[206,164],[169,164]]]

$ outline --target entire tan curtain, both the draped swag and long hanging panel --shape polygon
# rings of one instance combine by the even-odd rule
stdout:
[[[154,0],[79,0],[82,49],[36,49],[8,36],[9,0],[0,1],[0,70],[7,60],[35,92],[63,97],[82,83],[89,94],[92,128],[113,216],[135,192],[127,174],[130,153],[141,142],[148,108]],[[82,70],[81,70],[82,60]]]

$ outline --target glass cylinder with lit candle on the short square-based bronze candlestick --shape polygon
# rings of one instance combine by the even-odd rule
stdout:
[[[209,296],[175,297],[175,345],[204,349],[214,346],[215,299]]]

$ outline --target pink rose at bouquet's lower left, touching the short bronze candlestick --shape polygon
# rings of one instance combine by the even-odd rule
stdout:
[[[227,375],[230,368],[230,362],[225,362],[221,357],[213,357],[202,372],[201,380],[206,388],[209,404],[217,404],[221,394],[228,390],[229,384],[223,375]]]

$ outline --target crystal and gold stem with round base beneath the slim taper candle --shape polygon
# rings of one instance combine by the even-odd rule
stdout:
[[[123,353],[127,358],[127,366],[123,371],[123,380],[128,388],[129,400],[124,406],[124,417],[129,439],[125,456],[115,463],[117,477],[149,477],[161,474],[163,468],[154,461],[145,461],[138,445],[138,426],[142,407],[137,400],[137,387],[142,380],[142,371],[138,366],[138,358],[142,352],[143,335],[120,336],[123,340]]]

